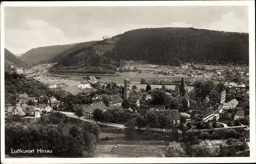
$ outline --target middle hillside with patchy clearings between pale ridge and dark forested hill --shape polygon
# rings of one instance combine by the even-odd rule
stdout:
[[[50,62],[56,62],[50,72],[115,74],[122,61],[115,62],[104,52],[115,47],[119,38],[77,44],[59,53]]]

